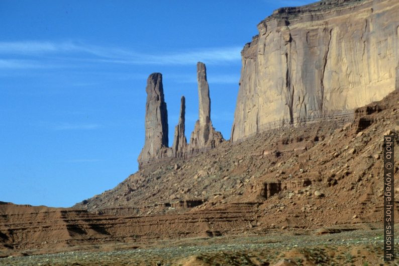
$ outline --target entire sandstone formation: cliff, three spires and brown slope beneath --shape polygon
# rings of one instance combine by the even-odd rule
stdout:
[[[162,74],[153,73],[139,171],[72,208],[0,202],[0,255],[109,250],[117,242],[145,247],[278,228],[378,228],[381,136],[399,133],[399,2],[283,8],[258,30],[242,50],[230,142],[212,125],[206,67],[198,62],[198,120],[187,143],[182,97],[168,147]],[[274,127],[281,128],[267,130]],[[397,222],[397,197],[395,203]]]

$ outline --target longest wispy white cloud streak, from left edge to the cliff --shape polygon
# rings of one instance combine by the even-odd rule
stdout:
[[[0,54],[3,55],[36,57],[56,55],[59,60],[116,64],[185,65],[195,64],[197,61],[209,64],[240,62],[241,49],[241,47],[234,46],[148,54],[119,47],[101,47],[77,42],[0,42]],[[77,54],[79,57],[76,57]]]

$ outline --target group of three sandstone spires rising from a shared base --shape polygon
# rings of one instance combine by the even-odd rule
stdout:
[[[224,141],[211,121],[211,99],[207,81],[207,68],[197,63],[198,120],[191,133],[190,143],[185,137],[185,98],[181,97],[179,122],[174,129],[172,147],[168,147],[168,112],[164,101],[162,74],[152,73],[147,79],[145,114],[145,142],[139,157],[139,168],[165,157],[185,158],[203,149],[214,148]]]

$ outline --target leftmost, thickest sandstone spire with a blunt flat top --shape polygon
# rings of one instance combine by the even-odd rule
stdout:
[[[168,111],[161,73],[149,75],[146,93],[145,143],[138,158],[139,163],[165,156],[165,148],[168,147]]]

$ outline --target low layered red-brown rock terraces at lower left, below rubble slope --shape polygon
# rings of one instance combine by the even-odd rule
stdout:
[[[181,215],[116,216],[0,202],[0,257],[21,250],[55,253],[90,244],[97,249],[99,244],[116,241],[146,246],[149,240],[203,237],[212,230],[225,234],[254,222],[256,206],[242,203]]]

